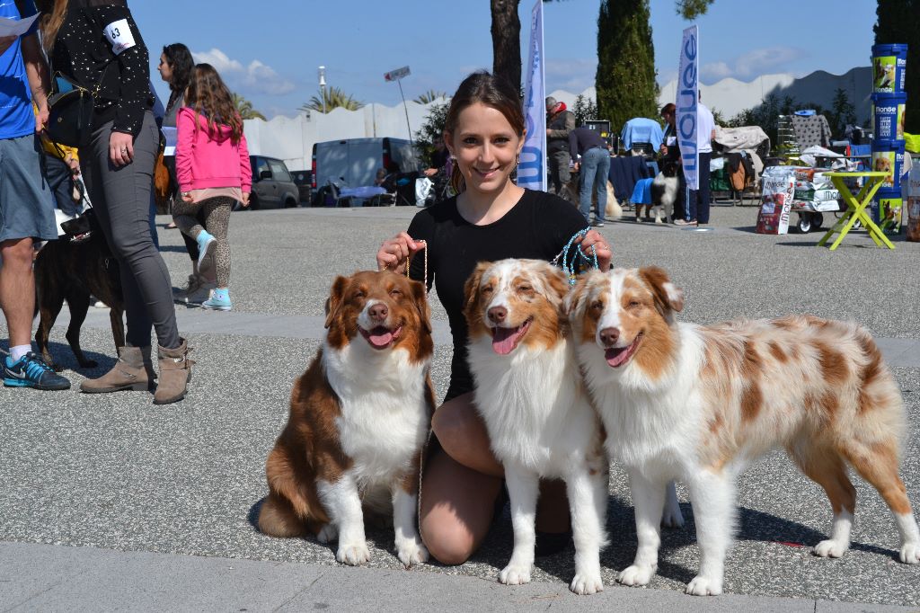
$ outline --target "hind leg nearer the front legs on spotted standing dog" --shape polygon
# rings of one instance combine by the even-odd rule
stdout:
[[[814,554],[839,558],[850,549],[850,528],[857,507],[857,491],[846,475],[845,461],[834,449],[815,447],[812,440],[801,441],[788,451],[802,472],[822,487],[834,510],[831,538],[815,545]]]

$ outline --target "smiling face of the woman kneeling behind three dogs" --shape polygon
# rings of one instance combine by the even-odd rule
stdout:
[[[481,102],[460,112],[445,142],[466,179],[466,189],[480,193],[504,190],[523,148],[523,138],[501,111]]]

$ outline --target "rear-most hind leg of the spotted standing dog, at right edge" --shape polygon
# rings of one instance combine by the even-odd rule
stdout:
[[[859,475],[872,484],[888,504],[901,533],[899,558],[905,564],[920,564],[920,528],[917,527],[907,489],[898,476],[898,445],[893,440],[873,445],[856,442],[841,449]]]

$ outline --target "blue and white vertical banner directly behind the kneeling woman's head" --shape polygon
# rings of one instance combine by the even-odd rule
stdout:
[[[530,18],[530,53],[524,87],[524,121],[527,136],[518,165],[517,184],[546,191],[546,80],[543,62],[543,0],[536,0]]]

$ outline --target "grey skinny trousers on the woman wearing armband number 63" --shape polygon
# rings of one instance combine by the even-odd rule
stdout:
[[[107,121],[93,130],[92,143],[80,150],[80,163],[89,178],[89,198],[99,226],[119,263],[128,319],[125,341],[132,347],[149,345],[153,328],[161,347],[175,349],[179,336],[172,284],[150,232],[150,191],[159,145],[154,114],[144,113],[132,162],[121,168],[109,161],[111,128]]]

